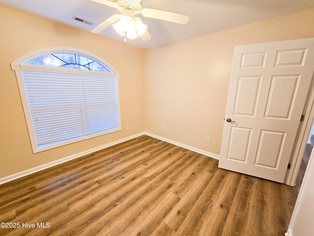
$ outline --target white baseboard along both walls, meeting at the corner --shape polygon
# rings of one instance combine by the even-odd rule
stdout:
[[[108,143],[108,144],[105,144],[105,145],[102,145],[102,146],[99,146],[99,147],[96,147],[96,148],[92,148],[92,149],[89,149],[89,150],[86,150],[86,151],[83,151],[83,152],[79,152],[79,153],[71,155],[71,156],[67,156],[67,157],[61,158],[59,160],[55,160],[55,161],[46,163],[46,164],[41,165],[41,166],[36,166],[34,168],[31,168],[31,169],[28,169],[28,170],[25,170],[25,171],[22,171],[22,172],[19,172],[19,173],[16,173],[16,174],[13,174],[13,175],[10,175],[10,176],[7,176],[7,177],[2,177],[2,178],[0,178],[0,185],[3,184],[3,183],[6,183],[6,182],[9,182],[9,181],[21,178],[21,177],[25,177],[25,176],[28,176],[30,174],[33,174],[33,173],[36,173],[36,172],[39,172],[39,171],[42,171],[42,170],[45,170],[45,169],[48,169],[50,167],[62,164],[64,162],[71,161],[73,159],[76,159],[78,157],[81,157],[81,156],[93,153],[95,151],[99,151],[101,149],[108,148],[108,147],[111,147],[113,145],[123,143],[125,141],[137,138],[137,137],[139,137],[141,135],[148,135],[148,136],[151,136],[153,138],[165,141],[167,143],[170,143],[170,144],[173,144],[173,145],[177,145],[179,147],[186,148],[188,150],[192,150],[192,151],[201,153],[203,155],[206,155],[206,156],[209,156],[209,157],[212,157],[212,158],[215,158],[215,159],[219,159],[219,156],[216,155],[216,154],[213,154],[213,153],[210,153],[210,152],[198,149],[198,148],[193,148],[193,147],[190,147],[190,146],[187,146],[187,145],[184,145],[184,144],[181,144],[181,143],[169,140],[169,139],[165,139],[165,138],[162,138],[162,137],[154,135],[154,134],[150,134],[150,133],[147,133],[147,132],[142,132],[142,133],[138,133],[138,134],[129,136],[129,137],[124,138],[124,139],[120,139],[120,140],[114,141],[112,143]]]

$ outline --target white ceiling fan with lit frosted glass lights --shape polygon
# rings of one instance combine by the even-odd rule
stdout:
[[[144,41],[150,40],[152,37],[147,31],[147,25],[143,24],[139,17],[134,17],[137,14],[142,14],[145,17],[174,22],[185,25],[189,21],[189,16],[174,13],[170,11],[157,10],[152,8],[143,8],[142,0],[91,0],[105,4],[110,7],[115,7],[122,14],[114,14],[99,24],[91,32],[100,33],[110,25],[121,35],[133,39],[141,37]],[[117,23],[116,23],[117,22]],[[114,24],[115,23],[115,24]]]

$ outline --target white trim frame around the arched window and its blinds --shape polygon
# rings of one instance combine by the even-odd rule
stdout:
[[[69,69],[69,68],[62,68],[62,67],[52,67],[52,66],[44,66],[44,65],[31,65],[31,64],[24,64],[25,62],[47,55],[47,54],[56,54],[56,53],[67,53],[67,54],[76,54],[79,56],[87,57],[95,59],[99,64],[103,65],[105,68],[109,69],[112,73],[106,73],[106,72],[99,72],[99,71],[91,71],[91,70],[79,70],[79,69]],[[98,136],[102,136],[105,134],[121,131],[121,111],[120,111],[120,94],[119,94],[119,73],[104,59],[98,57],[97,55],[94,55],[90,52],[77,49],[77,48],[71,48],[71,47],[49,47],[44,49],[38,49],[29,53],[26,53],[25,55],[21,56],[20,58],[14,60],[11,63],[11,69],[15,71],[17,83],[20,91],[20,96],[22,100],[23,110],[26,118],[26,125],[28,129],[28,135],[32,147],[33,153],[49,150],[52,148],[57,148],[69,144],[73,144],[76,142],[80,142],[83,140],[95,138]],[[68,140],[66,142],[60,141],[52,145],[45,145],[44,147],[38,147],[35,139],[34,129],[32,125],[32,118],[28,107],[28,101],[26,97],[26,90],[24,87],[24,81],[22,76],[22,71],[41,71],[41,72],[52,72],[52,73],[67,73],[72,75],[95,75],[95,76],[104,76],[104,77],[110,77],[116,79],[116,96],[117,96],[117,110],[118,110],[118,119],[119,119],[119,127],[114,130],[105,131],[102,133],[87,135],[84,137],[80,137],[73,140]]]

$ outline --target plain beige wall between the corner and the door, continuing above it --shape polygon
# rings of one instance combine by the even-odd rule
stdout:
[[[145,131],[219,155],[234,47],[308,37],[314,8],[147,51]]]

